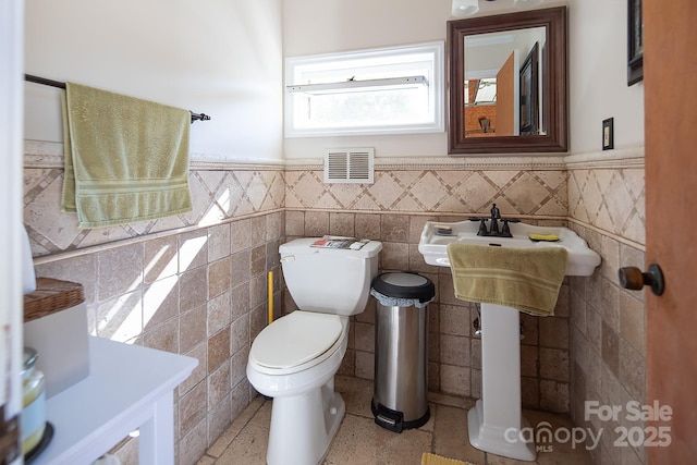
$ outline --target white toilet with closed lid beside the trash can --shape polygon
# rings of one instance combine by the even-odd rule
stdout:
[[[298,309],[267,326],[252,343],[247,378],[273,397],[269,465],[316,465],[345,413],[334,375],[346,353],[348,317],[365,310],[382,244],[317,247],[319,237],[279,247],[283,279]],[[359,246],[359,248],[357,248]]]

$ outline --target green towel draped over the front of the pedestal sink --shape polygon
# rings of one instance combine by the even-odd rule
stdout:
[[[566,270],[562,247],[514,248],[448,244],[455,296],[504,305],[538,316],[554,315]]]

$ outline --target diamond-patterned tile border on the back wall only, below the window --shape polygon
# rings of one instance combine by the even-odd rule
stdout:
[[[285,207],[400,211],[487,212],[496,203],[504,215],[566,217],[563,170],[376,169],[374,184],[325,184],[322,172],[285,173]]]

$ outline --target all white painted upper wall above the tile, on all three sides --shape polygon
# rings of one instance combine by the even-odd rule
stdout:
[[[643,147],[644,86],[626,86],[626,0],[545,5],[560,3],[570,8],[571,154],[600,151],[610,117],[616,148]],[[210,114],[193,126],[194,158],[362,146],[377,157],[447,155],[445,133],[283,142],[281,83],[283,56],[444,40],[451,0],[32,0],[26,10],[27,73]],[[506,11],[512,0],[482,1],[479,14]],[[25,89],[25,138],[60,142],[58,93]]]

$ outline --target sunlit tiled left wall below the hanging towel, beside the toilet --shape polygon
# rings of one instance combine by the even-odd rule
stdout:
[[[37,276],[84,285],[91,334],[198,359],[174,395],[176,463],[196,463],[256,395],[245,369],[267,320],[267,271],[281,302],[282,167],[194,162],[193,212],[81,231],[59,211],[62,169],[37,158],[25,157],[24,189]],[[137,463],[137,441],[119,449]]]

